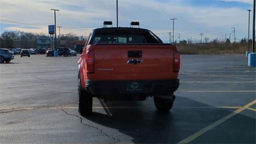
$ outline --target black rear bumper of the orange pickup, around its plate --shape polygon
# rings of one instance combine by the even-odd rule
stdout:
[[[112,94],[173,94],[180,85],[179,79],[172,80],[136,80],[143,86],[142,90],[126,90],[126,84],[134,81],[93,81],[86,80],[86,90],[95,95]]]

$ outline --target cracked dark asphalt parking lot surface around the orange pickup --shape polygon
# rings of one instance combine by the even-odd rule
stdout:
[[[244,55],[182,55],[167,114],[153,98],[94,99],[80,116],[77,57],[0,64],[0,143],[256,143],[256,68]]]

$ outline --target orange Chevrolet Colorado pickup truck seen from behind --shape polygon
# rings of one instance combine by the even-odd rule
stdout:
[[[146,100],[168,112],[178,89],[180,54],[142,28],[92,30],[78,60],[78,111],[92,113],[92,98]]]

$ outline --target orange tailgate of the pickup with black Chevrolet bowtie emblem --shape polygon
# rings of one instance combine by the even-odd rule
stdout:
[[[167,80],[178,76],[173,70],[176,46],[96,44],[87,50],[94,50],[94,73],[87,75],[90,80]],[[129,51],[132,55],[128,56]]]

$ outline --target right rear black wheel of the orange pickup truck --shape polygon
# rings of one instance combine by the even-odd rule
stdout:
[[[173,102],[175,100],[174,95],[166,95],[166,96],[154,96],[154,103],[156,106],[156,109],[160,112],[168,112],[173,105]]]

